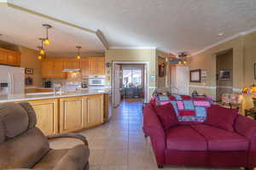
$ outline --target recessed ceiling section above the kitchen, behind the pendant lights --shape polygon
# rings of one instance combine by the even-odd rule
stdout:
[[[41,45],[39,37],[45,37],[46,30],[42,26],[47,23],[51,45],[45,47],[48,53],[73,53],[76,46],[82,46],[81,53],[104,52],[105,48],[96,32],[84,31],[48,20],[45,17],[26,13],[25,11],[0,5],[0,40],[28,48],[37,49]]]

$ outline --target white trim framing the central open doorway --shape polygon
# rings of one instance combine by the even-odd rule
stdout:
[[[147,102],[148,100],[148,72],[149,72],[149,62],[148,61],[112,61],[112,86],[113,87],[113,82],[114,82],[114,71],[113,71],[113,65],[145,65],[144,66],[144,102]],[[113,94],[113,88],[112,88],[112,94]],[[114,94],[113,94],[114,98]],[[113,99],[112,99],[113,100]]]

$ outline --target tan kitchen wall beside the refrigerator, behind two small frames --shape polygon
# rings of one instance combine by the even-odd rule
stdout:
[[[41,86],[40,60],[37,59],[38,51],[20,46],[20,53],[20,67],[32,68],[34,71],[33,75],[25,75],[25,77],[32,77],[33,79],[33,84],[26,87]]]

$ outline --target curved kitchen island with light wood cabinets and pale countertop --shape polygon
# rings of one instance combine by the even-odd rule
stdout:
[[[45,135],[69,133],[101,125],[111,115],[108,90],[0,96],[3,102],[28,102],[36,112],[37,127]]]

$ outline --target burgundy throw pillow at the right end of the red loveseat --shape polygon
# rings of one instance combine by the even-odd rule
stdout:
[[[237,115],[238,110],[236,109],[228,109],[219,105],[212,105],[207,110],[207,121],[205,123],[234,132],[233,125]]]

